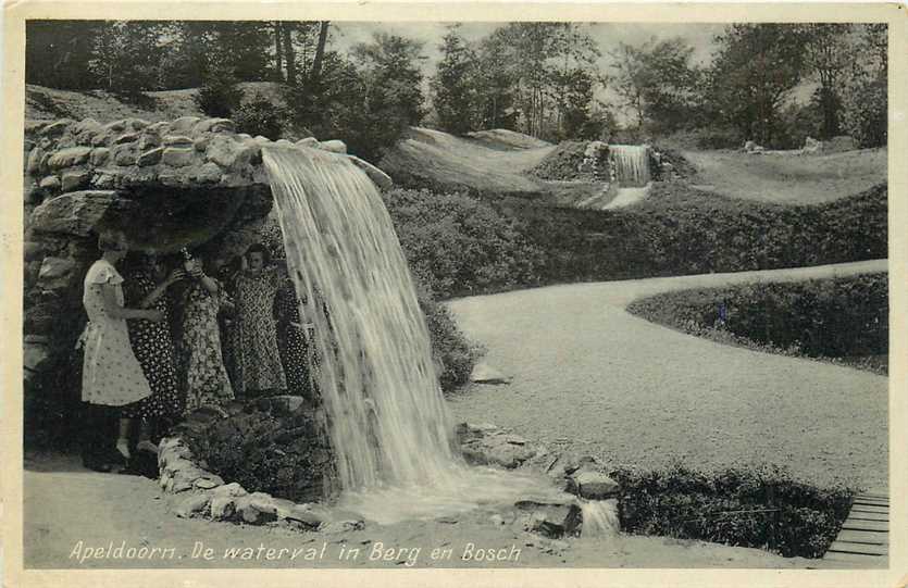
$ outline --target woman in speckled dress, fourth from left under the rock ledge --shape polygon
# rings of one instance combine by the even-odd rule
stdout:
[[[272,316],[274,296],[283,279],[262,245],[247,249],[246,263],[247,268],[236,278],[234,353],[238,389],[247,397],[283,392],[287,379]]]

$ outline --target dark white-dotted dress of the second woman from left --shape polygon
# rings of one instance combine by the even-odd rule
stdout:
[[[157,287],[147,273],[136,273],[123,283],[127,308],[138,308],[142,299]],[[127,418],[174,418],[181,412],[174,363],[173,339],[170,331],[170,299],[161,296],[151,309],[163,313],[164,320],[152,323],[145,320],[126,321],[133,353],[141,366],[151,396],[123,408]]]

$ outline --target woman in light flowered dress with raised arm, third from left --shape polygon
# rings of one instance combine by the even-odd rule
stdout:
[[[187,259],[184,264],[192,280],[185,295],[179,343],[182,374],[186,384],[186,413],[201,406],[220,406],[234,398],[221,353],[217,325],[223,286],[206,275],[201,261]]]

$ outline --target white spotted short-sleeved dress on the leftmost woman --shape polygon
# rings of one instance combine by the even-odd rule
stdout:
[[[104,310],[103,289],[114,288],[123,304],[123,276],[107,260],[96,261],[85,275],[83,304],[88,326],[83,333],[85,359],[82,399],[92,404],[122,406],[151,395],[141,366],[129,345],[126,321],[113,318]]]

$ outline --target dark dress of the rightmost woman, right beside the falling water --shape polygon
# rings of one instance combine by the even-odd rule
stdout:
[[[277,349],[287,377],[287,391],[310,398],[309,346],[302,331],[306,327],[301,325],[293,284],[285,283],[275,293],[274,317],[277,321]]]

